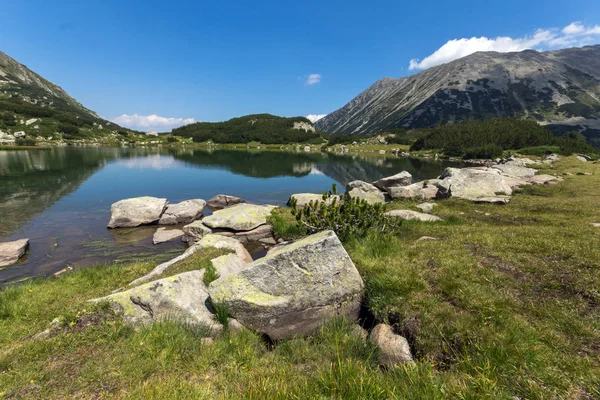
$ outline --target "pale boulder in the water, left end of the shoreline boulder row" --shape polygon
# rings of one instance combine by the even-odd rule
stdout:
[[[157,222],[165,208],[167,199],[135,197],[117,201],[110,208],[109,228],[133,228]]]

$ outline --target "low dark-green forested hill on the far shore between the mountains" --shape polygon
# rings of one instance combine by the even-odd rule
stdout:
[[[191,137],[195,142],[263,144],[323,143],[319,131],[294,129],[294,123],[312,123],[304,117],[283,118],[271,114],[246,115],[224,122],[197,122],[173,129],[173,135]]]

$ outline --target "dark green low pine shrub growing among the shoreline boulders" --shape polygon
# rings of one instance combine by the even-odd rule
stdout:
[[[336,193],[334,184],[331,191],[323,194],[323,201],[311,201],[302,210],[298,209],[296,199],[292,198],[290,206],[298,227],[309,233],[331,229],[342,241],[363,237],[371,230],[394,233],[400,227],[401,220],[384,216],[383,204],[369,204],[348,194],[338,200]]]

